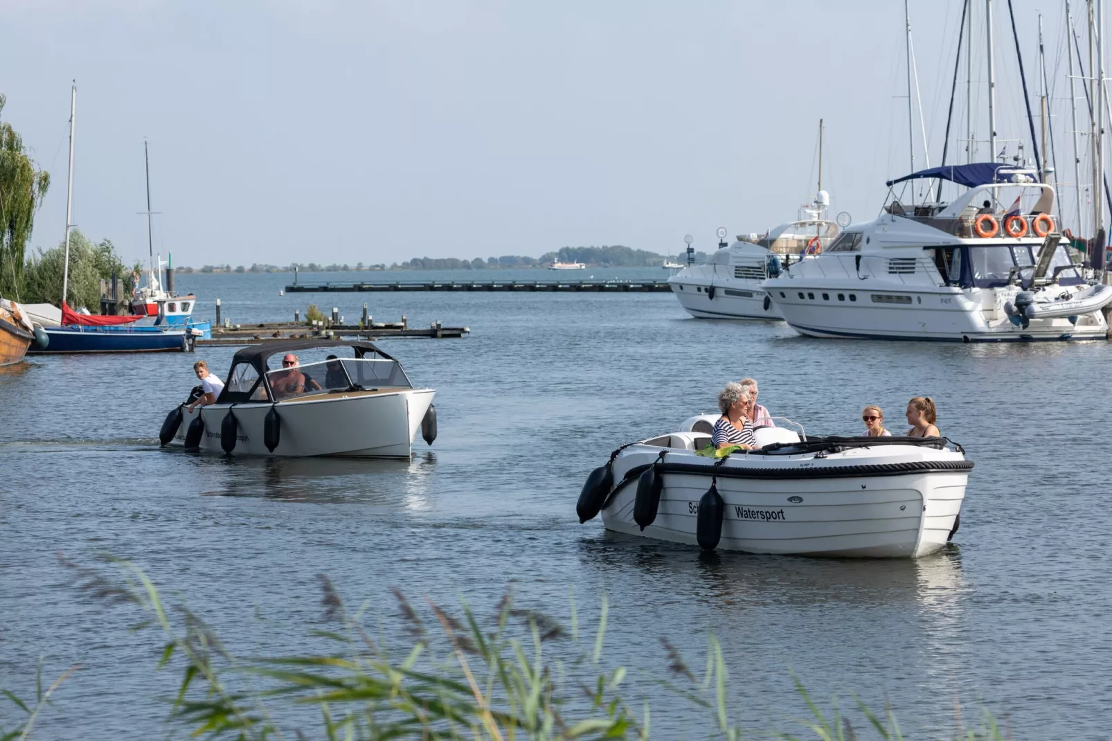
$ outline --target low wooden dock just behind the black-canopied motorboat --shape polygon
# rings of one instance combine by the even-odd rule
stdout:
[[[445,327],[433,322],[428,328],[411,328],[406,317],[401,322],[371,322],[363,324],[335,324],[329,320],[316,325],[295,322],[267,322],[216,326],[212,339],[198,339],[197,347],[241,347],[290,339],[386,339],[391,337],[425,337],[446,339],[470,334],[470,327]]]

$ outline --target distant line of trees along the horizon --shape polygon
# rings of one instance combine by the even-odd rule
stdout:
[[[699,254],[705,259],[705,256]],[[318,263],[292,263],[287,266],[254,264],[242,265],[205,265],[200,268],[179,267],[178,273],[292,273],[295,268],[307,273],[348,273],[353,270],[498,270],[507,268],[538,268],[553,263],[584,263],[592,267],[657,267],[665,261],[663,255],[645,249],[633,249],[623,245],[604,245],[602,247],[560,247],[540,257],[527,255],[503,255],[502,257],[476,257],[460,259],[458,257],[415,257],[404,263],[393,263],[388,268],[385,264],[364,265],[347,263],[320,265]]]

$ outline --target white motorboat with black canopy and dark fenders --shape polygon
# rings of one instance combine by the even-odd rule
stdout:
[[[335,359],[271,370],[286,353],[342,352]],[[431,388],[414,388],[401,364],[370,343],[295,340],[239,350],[216,404],[167,415],[159,441],[229,455],[408,458],[418,432],[431,445]]]

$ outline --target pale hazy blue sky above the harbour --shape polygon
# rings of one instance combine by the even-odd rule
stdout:
[[[932,165],[962,4],[910,0]],[[949,161],[966,77],[985,138],[984,4]],[[1007,3],[992,4],[996,128],[1030,157]],[[1062,6],[1014,4],[1029,78],[1046,16],[1072,181]],[[72,79],[73,223],[146,257],[146,138],[155,251],[197,267],[676,254],[685,234],[711,249],[717,227],[763,233],[814,197],[820,119],[832,216],[874,218],[911,167],[898,0],[0,0],[0,115],[52,178],[37,247],[64,234]]]

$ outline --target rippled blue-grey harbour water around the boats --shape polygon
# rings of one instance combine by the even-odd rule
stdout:
[[[416,277],[446,276],[399,276]],[[36,358],[0,376],[0,686],[31,694],[40,655],[50,676],[82,665],[39,738],[160,733],[157,698],[175,679],[152,671],[156,636],[80,596],[58,552],[136,561],[240,652],[304,650],[320,572],[387,619],[390,586],[493,605],[514,584],[519,603],[556,615],[574,590],[588,613],[608,595],[614,662],[663,673],[665,635],[701,666],[716,633],[748,728],[804,713],[794,671],[843,705],[850,692],[877,709],[888,698],[910,737],[951,730],[957,702],[966,720],[991,710],[1017,739],[1108,737],[1112,346],[806,339],[782,324],[689,319],[667,294],[279,297],[288,279],[181,276],[179,288],[201,296],[202,317],[219,296],[234,322],[310,302],[353,317],[366,300],[376,320],[469,326],[459,340],[383,343],[437,389],[439,438],[418,439],[408,465],[158,449],[192,362],[227,368],[226,348]],[[706,560],[577,523],[579,486],[610,449],[712,411],[721,386],[746,375],[774,414],[816,434],[857,432],[866,403],[896,431],[909,397],[933,396],[943,434],[976,462],[955,544],[917,562]],[[704,734],[686,707],[658,700],[653,718],[661,735]]]

